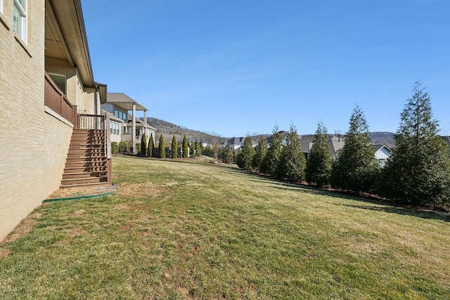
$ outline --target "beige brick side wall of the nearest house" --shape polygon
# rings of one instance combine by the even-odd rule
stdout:
[[[30,55],[14,38],[11,6],[10,30],[0,23],[0,240],[58,189],[72,133],[44,112],[45,1],[28,4]]]

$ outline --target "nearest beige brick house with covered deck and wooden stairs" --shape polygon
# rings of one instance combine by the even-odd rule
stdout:
[[[61,185],[110,183],[110,158],[80,0],[0,0],[0,41],[2,240]]]

